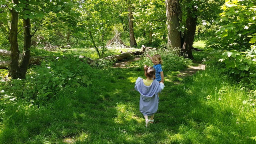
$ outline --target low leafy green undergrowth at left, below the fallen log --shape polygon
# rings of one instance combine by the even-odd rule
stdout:
[[[28,71],[25,80],[13,79],[12,85],[1,82],[2,89],[10,89],[5,94],[34,99],[42,102],[63,88],[74,88],[92,84],[93,69],[78,57],[57,58],[42,61],[40,66]]]

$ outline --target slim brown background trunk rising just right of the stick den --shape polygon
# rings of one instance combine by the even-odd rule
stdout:
[[[128,20],[129,20],[129,32],[130,32],[130,46],[137,47],[137,43],[136,43],[134,32],[133,32],[133,15],[132,15],[131,6],[128,6]]]

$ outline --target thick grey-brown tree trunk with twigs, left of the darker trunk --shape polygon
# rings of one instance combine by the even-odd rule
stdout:
[[[168,43],[172,48],[181,48],[181,39],[179,32],[179,3],[178,0],[165,0]]]

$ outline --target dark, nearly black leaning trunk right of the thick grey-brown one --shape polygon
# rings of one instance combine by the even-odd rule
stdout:
[[[192,55],[192,48],[193,48],[193,42],[196,32],[196,20],[197,20],[197,8],[195,6],[192,6],[192,9],[188,10],[188,16],[186,20],[186,27],[184,32],[184,43],[181,49],[181,52],[183,55],[185,55],[186,58],[194,59]]]

